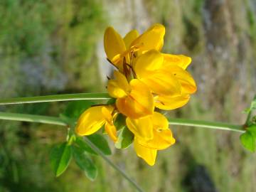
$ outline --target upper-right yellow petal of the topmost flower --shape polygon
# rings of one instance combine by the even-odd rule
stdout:
[[[135,39],[131,46],[140,46],[139,50],[142,53],[151,49],[161,50],[164,45],[164,33],[164,26],[156,23]]]

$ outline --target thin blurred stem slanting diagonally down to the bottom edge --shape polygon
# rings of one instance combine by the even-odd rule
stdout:
[[[112,161],[110,161],[110,159],[107,158],[107,156],[105,156],[105,154],[102,153],[102,151],[100,151],[100,149],[97,148],[97,146],[95,146],[95,144],[93,144],[87,137],[84,137],[85,142],[97,153],[99,154],[102,159],[104,159],[107,164],[110,164],[110,166],[112,166],[112,168],[114,168],[115,170],[117,170],[120,174],[122,174],[122,176],[124,178],[127,179],[127,181],[129,181],[129,183],[132,184],[132,186],[134,186],[134,188],[137,188],[137,191],[139,192],[143,192],[142,188],[140,188],[137,183],[135,183],[135,181],[132,180],[132,178],[129,178],[129,176],[127,176],[127,174],[122,171],[122,169],[120,169],[116,164],[114,164]]]

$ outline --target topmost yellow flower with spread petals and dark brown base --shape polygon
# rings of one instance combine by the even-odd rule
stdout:
[[[161,24],[154,24],[139,36],[136,30],[132,30],[122,38],[112,27],[108,27],[104,35],[104,48],[107,58],[121,72],[124,72],[126,64],[131,64],[135,55],[147,50],[161,50],[164,44],[165,28]]]

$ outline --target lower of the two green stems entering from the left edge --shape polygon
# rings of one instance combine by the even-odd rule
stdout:
[[[58,117],[48,117],[36,114],[20,114],[11,112],[0,112],[0,119],[21,121],[21,122],[38,122],[44,124],[56,124],[61,126],[68,126],[62,119]]]

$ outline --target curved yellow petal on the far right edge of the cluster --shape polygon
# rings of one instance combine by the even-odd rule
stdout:
[[[192,94],[196,92],[196,82],[193,77],[182,68],[176,65],[164,66],[164,70],[171,72],[181,83],[182,92]]]

